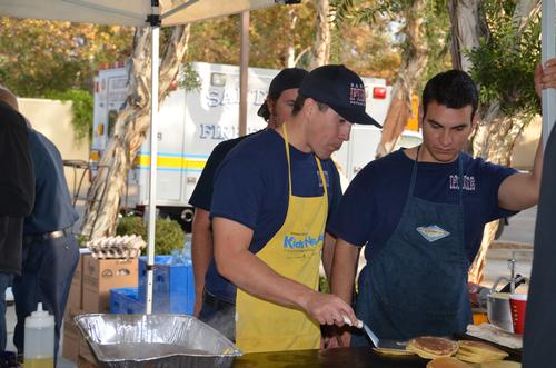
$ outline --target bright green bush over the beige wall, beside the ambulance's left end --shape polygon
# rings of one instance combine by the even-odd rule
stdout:
[[[82,141],[92,139],[92,96],[89,91],[70,89],[63,92],[49,92],[47,98],[62,101],[71,101],[71,112],[73,119],[71,123],[76,131],[76,140]]]

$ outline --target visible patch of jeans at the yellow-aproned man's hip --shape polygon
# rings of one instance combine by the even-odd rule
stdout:
[[[230,341],[236,341],[236,306],[206,291],[199,319],[209,325]]]

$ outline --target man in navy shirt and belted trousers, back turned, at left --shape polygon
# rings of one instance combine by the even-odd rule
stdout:
[[[23,222],[21,275],[13,278],[18,321],[13,344],[23,355],[24,321],[38,302],[54,316],[54,362],[79,246],[71,233],[78,220],[63,173],[60,151],[27,121],[34,172],[34,205]]]

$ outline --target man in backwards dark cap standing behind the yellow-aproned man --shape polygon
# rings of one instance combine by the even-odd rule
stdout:
[[[277,128],[291,117],[297,90],[308,73],[305,69],[286,68],[272,79],[268,89],[268,96],[257,112],[259,117],[265,119],[269,128]],[[191,257],[195,275],[193,316],[196,317],[199,316],[201,310],[205,277],[212,260],[212,230],[209,212],[210,202],[212,201],[215,173],[226,155],[247,137],[250,137],[250,135],[226,140],[215,147],[189,199],[189,203],[195,207]],[[215,273],[211,275],[215,276]],[[231,307],[228,309],[231,310]],[[207,314],[212,315],[210,310],[206,309],[202,316],[206,319],[209,318]],[[210,318],[212,317],[210,316]]]

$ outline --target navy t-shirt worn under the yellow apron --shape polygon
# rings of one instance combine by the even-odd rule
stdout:
[[[289,146],[294,196],[322,196],[324,189],[315,155]],[[322,160],[328,188],[328,213],[334,213],[341,187],[336,166]],[[216,177],[210,216],[242,223],[254,230],[249,250],[254,253],[278,231],[288,210],[288,161],[282,137],[272,129],[246,138],[220,163]],[[206,289],[235,302],[236,287],[218,275],[212,260],[206,277]]]

